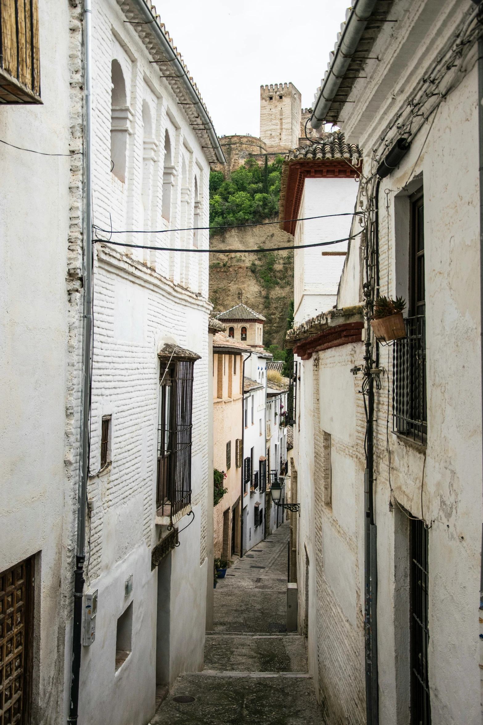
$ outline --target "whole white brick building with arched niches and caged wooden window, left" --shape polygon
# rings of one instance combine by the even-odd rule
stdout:
[[[223,158],[154,7],[94,3],[92,54],[98,241],[84,576],[97,613],[79,713],[145,725],[156,689],[202,668],[210,619],[211,305],[208,254],[192,250],[208,248],[210,162]]]

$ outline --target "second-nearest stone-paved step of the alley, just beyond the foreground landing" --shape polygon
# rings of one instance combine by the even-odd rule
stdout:
[[[210,634],[205,644],[205,669],[241,672],[306,672],[303,637]]]

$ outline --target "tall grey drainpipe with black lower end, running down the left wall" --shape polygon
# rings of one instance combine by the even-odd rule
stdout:
[[[74,575],[74,622],[72,627],[72,675],[70,711],[67,722],[77,723],[82,650],[83,566],[85,560],[85,508],[89,469],[89,413],[91,401],[92,336],[92,137],[91,137],[91,0],[84,0],[84,208],[85,244],[83,249],[83,351],[80,399],[79,488],[77,498],[77,547]]]

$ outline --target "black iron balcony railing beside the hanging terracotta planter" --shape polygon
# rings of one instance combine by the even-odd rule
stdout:
[[[407,318],[406,337],[392,350],[392,427],[419,443],[427,439],[426,319]]]

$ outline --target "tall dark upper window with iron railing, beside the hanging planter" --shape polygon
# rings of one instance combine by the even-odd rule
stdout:
[[[424,290],[424,197],[411,202],[408,317],[406,337],[392,350],[392,421],[400,434],[424,443],[427,438],[426,305]]]

